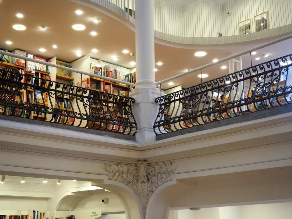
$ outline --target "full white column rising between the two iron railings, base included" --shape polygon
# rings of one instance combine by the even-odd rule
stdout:
[[[135,98],[134,116],[138,124],[136,141],[147,144],[156,140],[153,124],[160,96],[154,81],[154,0],[135,0],[137,82],[131,97]]]

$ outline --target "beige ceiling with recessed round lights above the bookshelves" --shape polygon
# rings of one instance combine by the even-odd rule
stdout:
[[[84,13],[76,15],[75,11],[77,9],[82,10]],[[16,13],[22,13],[24,18],[17,18],[15,16]],[[129,54],[122,53],[124,49],[135,53],[135,32],[114,18],[93,8],[68,0],[1,0],[0,14],[3,20],[1,23],[0,48],[8,49],[9,51],[18,48],[43,58],[57,56],[58,60],[69,63],[78,59],[75,54],[76,51],[87,54],[91,53],[93,48],[96,48],[98,53],[91,53],[92,58],[102,59],[105,62],[128,69],[135,67],[130,65],[130,62],[135,61],[135,58]],[[95,17],[102,18],[103,22],[93,23],[92,19]],[[86,29],[83,31],[72,29],[73,24],[79,23],[85,25]],[[23,24],[27,29],[25,31],[16,31],[12,28],[13,24]],[[38,28],[39,25],[47,25],[48,29],[41,30]],[[91,36],[91,31],[97,32],[98,35]],[[12,41],[13,44],[7,45],[5,43],[7,40]],[[56,44],[58,48],[52,48],[53,44]],[[41,53],[39,48],[45,48],[47,51]],[[162,66],[155,65],[158,69],[155,73],[155,79],[160,81],[185,72],[186,68],[200,67],[212,62],[214,58],[224,58],[231,51],[238,51],[238,48],[238,45],[229,45],[225,49],[222,49],[222,47],[216,49],[209,47],[209,49],[203,50],[206,51],[206,56],[195,57],[194,53],[202,51],[201,49],[174,48],[155,43],[155,62],[163,62]],[[241,44],[240,48],[245,49],[246,47]],[[279,47],[276,48],[278,54]],[[263,52],[267,53],[268,51]],[[272,53],[276,53],[275,49]],[[115,62],[112,60],[112,56],[119,56],[120,59]],[[244,67],[248,67],[250,63],[249,58],[246,57],[244,57]],[[209,77],[203,81],[228,74],[229,69],[221,69],[222,65],[228,67],[228,62],[204,69],[203,73],[208,74]],[[199,73],[195,72],[175,79],[172,81],[173,85],[162,84],[162,88],[168,89],[178,85],[186,88],[199,84],[201,83],[201,79],[198,77]]]

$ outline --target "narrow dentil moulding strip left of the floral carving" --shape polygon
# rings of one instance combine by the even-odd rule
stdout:
[[[37,149],[33,147],[18,147],[14,145],[0,145],[0,150],[9,150],[9,151],[17,151],[17,152],[27,152],[27,153],[36,153],[36,154],[45,154],[51,156],[60,156],[74,159],[86,159],[86,160],[95,160],[95,161],[108,161],[115,163],[126,163],[126,164],[135,164],[137,159],[119,159],[116,157],[106,157],[107,155],[101,156],[92,156],[87,154],[77,154],[77,153],[67,153],[60,152],[57,150],[45,150],[45,149]]]

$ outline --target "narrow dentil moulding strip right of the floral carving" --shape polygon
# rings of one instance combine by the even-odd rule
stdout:
[[[195,157],[219,154],[219,153],[224,153],[224,152],[234,152],[238,150],[252,149],[252,148],[262,147],[262,146],[272,146],[272,145],[276,146],[279,143],[282,144],[285,142],[286,143],[292,142],[291,135],[277,136],[277,137],[278,138],[273,138],[273,139],[261,138],[260,140],[250,139],[248,141],[242,142],[241,144],[229,143],[229,144],[224,144],[224,145],[198,148],[198,149],[178,152],[174,154],[150,157],[147,159],[147,162],[152,164],[152,163],[173,161],[173,160],[179,160],[179,159],[195,158]]]

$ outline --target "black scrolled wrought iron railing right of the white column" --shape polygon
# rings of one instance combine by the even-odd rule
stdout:
[[[290,104],[292,54],[155,99],[157,135]]]

